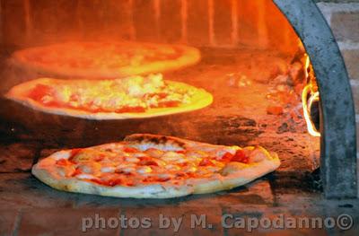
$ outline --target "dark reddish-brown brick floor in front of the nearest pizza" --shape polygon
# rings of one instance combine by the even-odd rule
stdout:
[[[240,219],[324,219],[340,214],[349,214],[354,219],[353,228],[346,231],[345,235],[357,235],[359,232],[358,199],[325,200],[320,193],[305,188],[278,187],[276,179],[271,175],[245,187],[215,194],[165,200],[135,200],[57,191],[39,182],[29,172],[0,174],[0,235],[78,235],[83,233],[86,226],[91,227],[86,224],[90,219],[92,223],[95,222],[91,229],[86,229],[91,235],[176,234],[173,224],[169,227],[162,224],[160,228],[161,214],[163,217],[174,217],[177,221],[182,219],[179,235],[247,235],[250,228],[255,227],[255,223],[247,224],[244,229],[241,228],[243,224],[237,224],[237,228],[232,226],[240,223]],[[206,215],[206,227],[202,228],[201,224],[192,227],[192,219],[199,218],[201,214]],[[96,226],[96,217],[103,218],[105,223],[109,223],[107,221],[112,217],[127,217],[127,224],[123,220],[125,224],[122,226],[106,224],[101,229],[100,220]],[[150,219],[151,227],[148,229],[145,225],[136,227],[136,223],[129,223],[131,218],[144,217]],[[222,223],[223,218],[227,219],[225,224]],[[270,228],[266,224],[259,225],[258,229],[252,230],[256,235],[337,235],[343,232],[337,227],[291,229],[291,226],[283,226],[284,224]]]

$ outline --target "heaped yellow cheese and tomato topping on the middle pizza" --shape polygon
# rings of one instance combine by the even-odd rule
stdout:
[[[49,107],[123,113],[188,104],[196,90],[166,83],[162,74],[151,74],[95,83],[38,84],[28,96]]]

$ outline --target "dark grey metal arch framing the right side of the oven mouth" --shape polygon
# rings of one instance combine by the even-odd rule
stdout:
[[[328,198],[357,197],[355,109],[337,42],[312,0],[273,0],[311,57],[320,90],[320,172]]]

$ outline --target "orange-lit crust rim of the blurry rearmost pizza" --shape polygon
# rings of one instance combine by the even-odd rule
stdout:
[[[103,47],[102,44],[113,45],[112,47]],[[56,56],[50,61],[57,61],[58,58],[66,52],[74,52],[76,48],[81,48],[86,45],[94,45],[93,47],[102,48],[102,53],[110,53],[112,48],[118,50],[118,52],[113,54],[113,57],[109,59],[114,59],[121,56],[120,51],[133,51],[135,57],[141,57],[141,47],[149,47],[150,52],[153,54],[153,60],[145,62],[144,64],[136,65],[131,61],[128,61],[125,65],[119,67],[109,67],[109,66],[97,66],[97,67],[85,67],[85,66],[61,66],[61,65],[52,65],[43,62],[40,59],[29,58],[31,55],[41,55],[41,54],[50,54],[56,53]],[[156,55],[159,51],[164,48],[176,48],[180,50],[178,57],[173,58],[157,58]],[[92,48],[88,47],[87,51],[91,51]],[[55,53],[54,53],[55,54]],[[76,58],[85,57],[88,60],[95,60],[96,58],[86,57],[85,53],[80,55],[74,54],[72,59],[76,62]],[[176,70],[183,68],[185,66],[192,66],[197,64],[200,60],[200,52],[197,48],[192,48],[184,45],[167,45],[167,44],[154,44],[147,42],[133,42],[133,41],[113,41],[113,42],[67,42],[62,44],[48,45],[43,47],[36,48],[25,48],[13,53],[12,61],[13,64],[28,68],[30,70],[36,71],[42,74],[49,74],[51,76],[61,76],[61,77],[77,77],[77,78],[91,78],[91,79],[113,79],[119,77],[126,77],[136,74],[151,74],[166,72],[171,70]],[[110,63],[110,61],[109,61]]]

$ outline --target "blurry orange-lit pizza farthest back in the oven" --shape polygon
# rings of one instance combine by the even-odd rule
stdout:
[[[197,48],[133,41],[66,42],[13,53],[13,63],[51,76],[118,78],[191,66]]]

